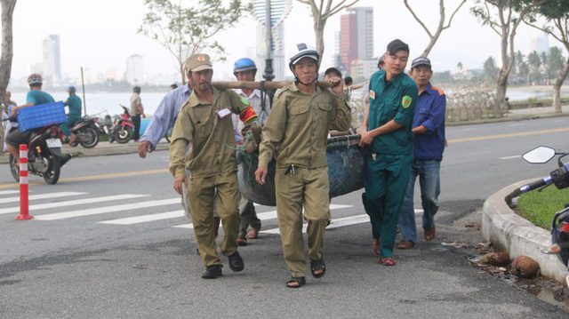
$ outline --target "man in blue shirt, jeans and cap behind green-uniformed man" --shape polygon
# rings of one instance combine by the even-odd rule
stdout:
[[[422,226],[425,240],[435,238],[435,214],[438,211],[440,194],[440,167],[445,151],[445,109],[446,96],[443,90],[430,84],[433,76],[430,60],[419,57],[411,64],[411,76],[417,83],[419,98],[413,117],[413,164],[407,185],[407,193],[399,217],[403,240],[397,249],[409,249],[417,243],[417,227],[413,205],[415,179],[419,176],[421,186],[421,205],[423,208]]]

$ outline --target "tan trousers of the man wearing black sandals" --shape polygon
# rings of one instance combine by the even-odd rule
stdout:
[[[283,243],[284,261],[292,275],[306,276],[304,238],[302,236],[302,203],[304,219],[309,222],[309,258],[321,259],[325,227],[330,211],[328,168],[295,167],[294,175],[276,169],[276,215]]]

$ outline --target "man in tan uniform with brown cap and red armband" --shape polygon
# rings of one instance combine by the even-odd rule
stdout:
[[[182,194],[182,185],[188,187],[189,211],[205,266],[202,277],[214,279],[221,275],[212,231],[214,200],[224,233],[221,253],[228,256],[231,270],[244,269],[243,259],[237,252],[239,189],[231,114],[239,115],[245,124],[244,132],[251,129],[257,115],[249,102],[236,92],[212,87],[212,62],[207,54],[190,56],[187,68],[194,92],[180,109],[174,124],[170,171],[175,178],[176,192]],[[186,169],[190,173],[189,182]]]

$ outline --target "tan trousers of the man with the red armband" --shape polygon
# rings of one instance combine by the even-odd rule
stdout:
[[[188,187],[194,234],[204,266],[220,265],[220,258],[215,248],[215,235],[212,232],[213,201],[216,200],[217,213],[223,226],[221,253],[229,256],[237,250],[237,235],[241,221],[236,172],[223,172],[207,178],[192,176],[189,178]]]

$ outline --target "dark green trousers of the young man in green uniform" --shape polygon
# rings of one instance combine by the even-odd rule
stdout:
[[[373,238],[380,239],[380,258],[393,256],[397,223],[405,199],[413,155],[370,152],[365,160],[365,212],[370,216]]]

